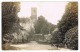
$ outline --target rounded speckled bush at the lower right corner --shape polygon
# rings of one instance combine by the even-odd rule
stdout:
[[[67,44],[68,48],[78,49],[78,26],[66,32],[64,42]]]

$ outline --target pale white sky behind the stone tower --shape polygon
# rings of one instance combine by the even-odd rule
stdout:
[[[18,16],[20,18],[30,17],[31,8],[36,7],[37,17],[42,15],[48,22],[57,25],[64,14],[67,3],[68,2],[21,2]]]

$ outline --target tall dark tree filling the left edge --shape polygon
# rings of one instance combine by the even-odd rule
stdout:
[[[9,42],[11,33],[19,27],[19,2],[2,2],[2,44]]]

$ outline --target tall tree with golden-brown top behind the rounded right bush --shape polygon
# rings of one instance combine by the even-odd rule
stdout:
[[[62,36],[62,40],[65,39],[65,33],[75,26],[78,26],[78,3],[69,2],[66,6],[62,19],[58,23],[58,28],[61,32],[60,35]]]

